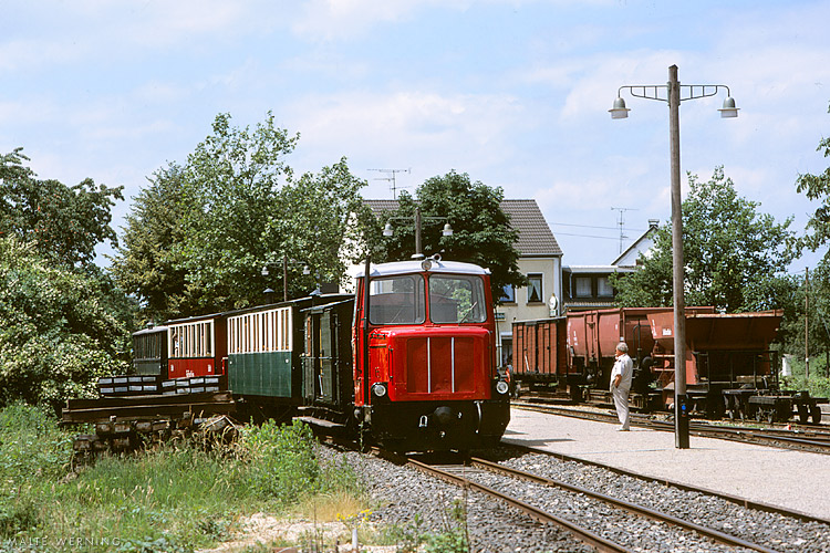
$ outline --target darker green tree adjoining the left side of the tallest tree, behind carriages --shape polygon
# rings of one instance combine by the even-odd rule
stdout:
[[[143,306],[145,321],[189,314],[186,272],[178,246],[184,238],[184,169],[169,164],[157,170],[133,200],[122,243],[110,271]]]

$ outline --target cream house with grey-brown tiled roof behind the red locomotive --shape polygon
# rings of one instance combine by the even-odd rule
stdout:
[[[378,218],[398,207],[397,200],[364,201]],[[518,265],[529,282],[519,289],[506,286],[501,304],[496,307],[500,358],[506,365],[512,351],[513,321],[548,319],[563,312],[562,249],[536,200],[505,199],[500,206],[518,231]]]

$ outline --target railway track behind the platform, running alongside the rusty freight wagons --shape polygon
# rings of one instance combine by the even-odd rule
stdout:
[[[512,403],[518,409],[560,415],[563,417],[599,420],[602,422],[618,424],[616,415],[600,411],[587,411],[573,408],[558,407],[551,405]],[[674,422],[667,420],[655,420],[645,415],[632,413],[631,422],[634,426],[651,428],[662,431],[674,431]],[[782,449],[797,449],[830,455],[830,432],[818,427],[800,427],[797,430],[784,428],[753,428],[746,426],[723,426],[706,422],[691,421],[689,434],[706,438],[720,438],[746,444],[778,447]]]

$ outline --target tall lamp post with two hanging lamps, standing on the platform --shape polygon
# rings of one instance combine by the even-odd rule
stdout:
[[[611,118],[622,119],[631,109],[622,98],[623,88],[634,97],[657,100],[668,103],[668,142],[671,149],[672,175],[672,290],[674,298],[674,439],[675,447],[688,449],[688,413],[686,396],[686,313],[684,294],[683,261],[683,213],[681,200],[681,102],[714,96],[720,88],[726,90],[726,100],[720,109],[722,117],[737,117],[738,108],[724,84],[681,85],[677,80],[677,65],[668,67],[668,82],[663,85],[626,85],[616,93],[614,107],[609,109]],[[661,94],[665,91],[665,97]],[[682,92],[687,92],[683,96]]]

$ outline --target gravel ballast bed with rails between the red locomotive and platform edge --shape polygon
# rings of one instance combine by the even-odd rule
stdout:
[[[596,551],[830,552],[830,520],[560,453],[502,445],[477,451],[486,459],[380,455],[394,463],[381,470],[366,467],[371,478],[388,478],[386,471],[395,470],[393,465],[397,470],[414,467],[465,490],[469,533],[478,536],[474,539],[475,551],[502,551],[494,545],[498,538],[490,534],[495,532],[504,539],[505,524],[512,524],[518,533],[528,530],[530,519],[519,512],[509,515],[513,509],[495,508],[498,522],[478,511],[481,505],[494,509],[492,505],[502,504],[543,523],[531,531],[539,539],[535,545],[539,551],[550,549],[541,536],[558,532],[570,533],[571,540]],[[357,461],[361,467],[365,462]],[[406,467],[402,466],[404,462]],[[383,489],[388,490],[393,481],[395,488],[414,486],[423,478],[409,473],[388,479]],[[409,501],[409,512],[432,505],[440,495],[433,491],[438,484],[429,484],[428,479],[417,486],[415,493],[408,488],[393,492],[402,498],[400,501]]]

